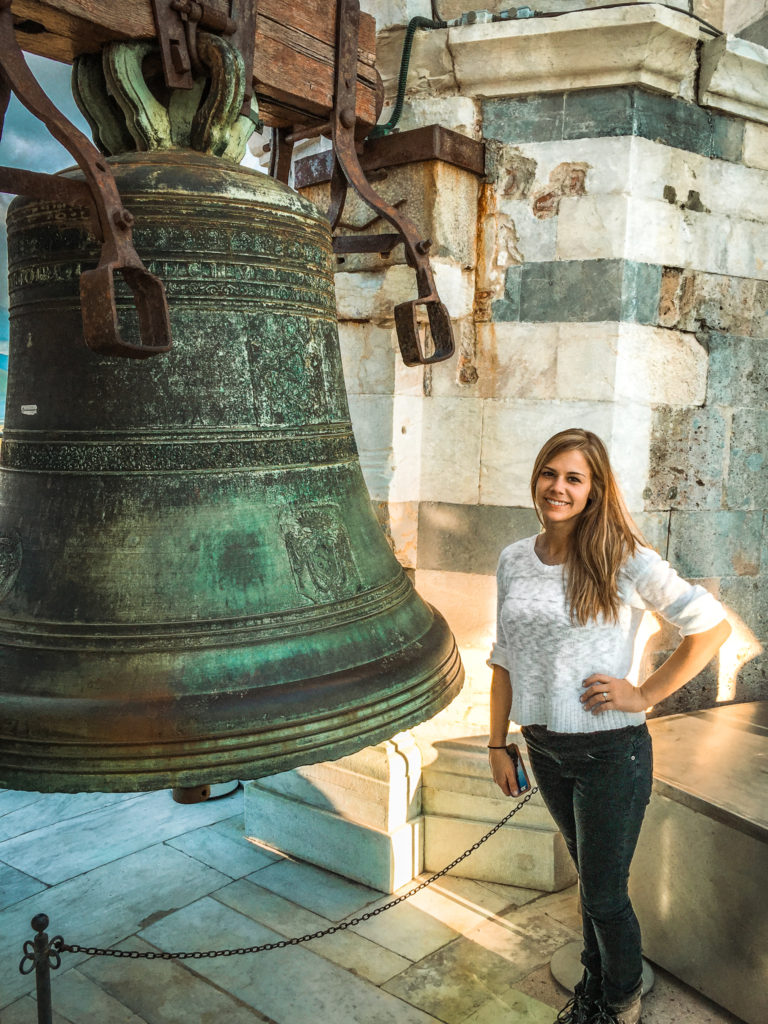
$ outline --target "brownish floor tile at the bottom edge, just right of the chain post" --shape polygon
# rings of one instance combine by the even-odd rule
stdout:
[[[126,949],[139,952],[155,948],[135,937],[122,944]],[[129,1008],[136,1015],[135,1020],[145,1021],[146,1024],[256,1024],[257,1021],[269,1021],[252,1007],[210,985],[182,962],[93,956],[78,970]],[[84,1021],[83,1024],[90,1022]]]

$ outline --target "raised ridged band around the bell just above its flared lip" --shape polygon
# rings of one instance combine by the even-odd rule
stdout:
[[[0,643],[9,647],[41,650],[173,650],[185,648],[249,646],[283,637],[297,637],[329,625],[348,626],[360,620],[392,611],[412,594],[404,572],[380,587],[345,600],[292,608],[268,615],[207,618],[181,623],[46,623],[0,617]]]

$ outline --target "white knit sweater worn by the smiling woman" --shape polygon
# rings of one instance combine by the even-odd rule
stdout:
[[[593,715],[579,697],[593,673],[631,678],[635,641],[646,609],[659,612],[682,636],[703,633],[725,617],[723,606],[702,587],[677,574],[660,555],[640,548],[618,578],[618,622],[602,617],[573,625],[565,601],[562,565],[545,565],[535,537],[502,551],[497,571],[497,642],[488,663],[512,680],[511,719],[546,725],[553,732],[596,732],[639,725],[643,712]]]

